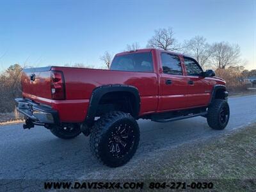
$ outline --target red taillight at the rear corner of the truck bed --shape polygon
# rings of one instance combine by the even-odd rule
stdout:
[[[65,81],[63,72],[57,70],[51,71],[51,93],[52,99],[65,99]]]

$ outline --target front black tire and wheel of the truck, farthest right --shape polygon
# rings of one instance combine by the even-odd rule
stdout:
[[[228,102],[223,99],[215,99],[208,108],[207,123],[212,129],[225,129],[229,116],[230,109]]]

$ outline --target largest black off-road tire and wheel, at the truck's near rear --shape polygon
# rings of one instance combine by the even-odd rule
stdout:
[[[136,120],[122,111],[111,111],[92,127],[92,154],[110,167],[122,166],[134,156],[140,141]]]

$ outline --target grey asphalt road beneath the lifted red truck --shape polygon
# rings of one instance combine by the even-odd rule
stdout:
[[[203,117],[169,123],[139,120],[141,140],[135,156],[120,168],[108,168],[92,157],[89,138],[61,140],[44,127],[22,129],[22,124],[0,127],[0,179],[106,179],[118,178],[124,170],[136,168],[157,151],[182,143],[223,134],[256,121],[256,95],[234,97],[230,122],[223,131],[208,127]],[[157,157],[156,157],[157,158]],[[106,176],[108,175],[108,176]]]

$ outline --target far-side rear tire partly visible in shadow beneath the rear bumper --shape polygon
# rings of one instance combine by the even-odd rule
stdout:
[[[64,140],[76,138],[76,136],[81,133],[80,126],[78,124],[68,124],[67,126],[53,125],[50,128],[50,131],[54,136]]]

